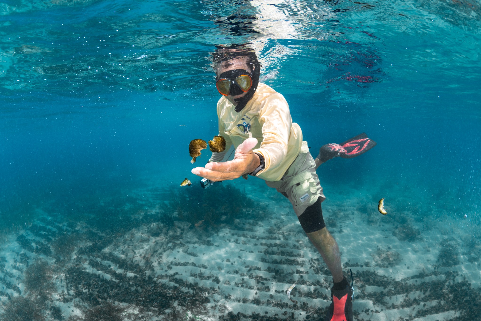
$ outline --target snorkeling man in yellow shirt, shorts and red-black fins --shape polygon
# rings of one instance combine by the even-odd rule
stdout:
[[[326,262],[334,285],[327,321],[353,321],[353,289],[342,272],[339,246],[322,217],[322,192],[316,168],[331,158],[350,158],[365,153],[376,143],[361,134],[342,144],[326,144],[314,159],[303,141],[301,128],[292,122],[284,97],[259,82],[260,64],[245,46],[218,47],[213,54],[219,134],[226,140],[222,153],[213,153],[205,167],[192,173],[212,181],[252,175],[292,204],[309,240]],[[220,162],[234,145],[234,159]]]

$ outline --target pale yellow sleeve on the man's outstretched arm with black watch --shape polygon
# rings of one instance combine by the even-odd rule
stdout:
[[[291,112],[284,97],[273,94],[261,108],[259,123],[262,125],[262,143],[260,148],[253,150],[264,156],[265,173],[280,165],[287,154],[287,145],[292,126]]]

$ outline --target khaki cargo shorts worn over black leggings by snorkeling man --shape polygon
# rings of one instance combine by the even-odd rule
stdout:
[[[316,203],[320,197],[321,202],[326,199],[322,193],[319,177],[316,174],[316,163],[307,141],[303,141],[301,152],[287,169],[286,173],[278,181],[267,181],[269,187],[275,188],[279,193],[289,198],[294,212],[299,217],[304,210]]]

